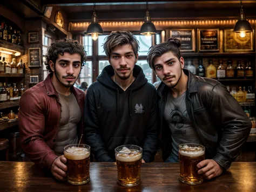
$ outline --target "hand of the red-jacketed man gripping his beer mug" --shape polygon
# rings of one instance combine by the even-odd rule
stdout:
[[[66,158],[64,155],[59,156],[53,161],[51,165],[51,174],[59,181],[64,181],[66,177],[66,170],[68,167],[65,165]]]

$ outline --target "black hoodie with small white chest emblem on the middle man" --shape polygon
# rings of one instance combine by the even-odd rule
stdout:
[[[114,148],[137,145],[143,148],[143,159],[154,160],[158,141],[158,94],[156,88],[134,66],[133,83],[124,91],[111,79],[114,70],[106,66],[87,90],[85,99],[85,143],[91,146],[95,159],[114,161]]]

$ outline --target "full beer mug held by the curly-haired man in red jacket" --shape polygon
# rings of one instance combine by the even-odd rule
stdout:
[[[71,184],[85,184],[90,181],[90,146],[73,144],[64,147],[66,166],[68,167],[68,182]]]

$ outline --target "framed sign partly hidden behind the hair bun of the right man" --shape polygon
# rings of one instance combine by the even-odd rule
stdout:
[[[177,38],[180,40],[181,52],[196,51],[196,40],[195,40],[194,29],[171,30],[170,37]]]

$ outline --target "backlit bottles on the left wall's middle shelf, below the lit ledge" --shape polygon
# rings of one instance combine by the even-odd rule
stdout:
[[[0,57],[0,73],[24,73],[24,65],[22,59],[19,59],[19,63],[16,64],[15,59],[12,59],[11,63],[5,62],[5,57]]]

